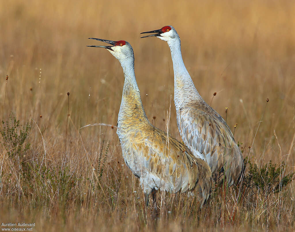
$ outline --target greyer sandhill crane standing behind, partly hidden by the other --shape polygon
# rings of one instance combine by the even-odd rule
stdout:
[[[206,160],[212,175],[225,170],[228,185],[240,180],[243,158],[230,127],[199,95],[182,60],[180,38],[173,26],[142,32],[156,33],[170,47],[174,70],[174,102],[181,138],[194,155]]]

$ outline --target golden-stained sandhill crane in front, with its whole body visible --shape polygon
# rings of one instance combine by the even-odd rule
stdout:
[[[124,87],[118,115],[117,134],[126,165],[140,179],[145,194],[152,193],[156,210],[157,190],[176,193],[197,193],[201,206],[209,197],[212,185],[211,170],[202,159],[196,158],[189,148],[167,133],[154,127],[142,106],[134,73],[134,54],[131,45],[124,41],[95,39],[111,46],[108,49],[116,57],[124,72]]]

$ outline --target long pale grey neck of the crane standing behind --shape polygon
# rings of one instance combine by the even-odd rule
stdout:
[[[180,39],[168,41],[174,70],[174,102],[176,110],[191,101],[203,101],[182,60]]]

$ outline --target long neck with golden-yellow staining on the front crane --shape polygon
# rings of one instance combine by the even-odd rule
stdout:
[[[140,122],[148,121],[140,99],[134,73],[134,59],[121,62],[124,71],[124,87],[118,115],[118,126],[127,128]]]

